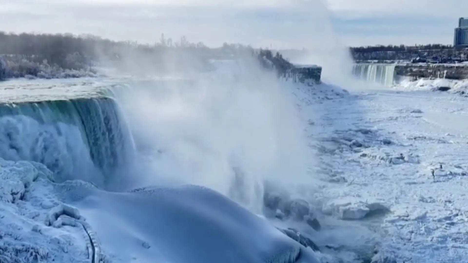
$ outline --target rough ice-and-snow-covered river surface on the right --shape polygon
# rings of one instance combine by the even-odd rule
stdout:
[[[327,183],[315,197],[379,235],[376,262],[468,262],[467,102],[381,89],[320,105],[310,132]]]

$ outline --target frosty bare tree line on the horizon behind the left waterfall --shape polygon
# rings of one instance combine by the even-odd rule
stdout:
[[[38,76],[44,69],[91,70],[96,62],[110,62],[127,70],[152,72],[186,71],[206,68],[209,59],[253,55],[271,60],[274,68],[285,71],[290,63],[268,49],[224,43],[209,48],[202,42],[192,43],[186,37],[178,41],[161,34],[153,44],[136,41],[113,41],[94,35],[30,34],[0,31],[0,77]],[[2,62],[3,61],[3,62]],[[264,64],[264,59],[260,61]],[[266,65],[264,65],[266,66]],[[2,73],[3,72],[3,73]]]

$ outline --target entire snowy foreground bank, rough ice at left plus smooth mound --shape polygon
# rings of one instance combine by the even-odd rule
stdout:
[[[318,263],[312,241],[207,188],[117,193],[50,175],[0,159],[0,262]]]

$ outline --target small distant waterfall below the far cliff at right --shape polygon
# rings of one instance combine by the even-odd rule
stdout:
[[[355,64],[352,73],[362,80],[392,86],[395,82],[395,64]]]

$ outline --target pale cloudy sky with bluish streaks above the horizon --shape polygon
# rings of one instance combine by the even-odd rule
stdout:
[[[468,0],[0,0],[0,30],[219,46],[452,44]]]

